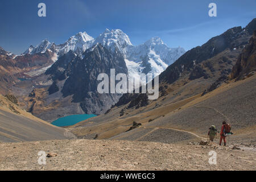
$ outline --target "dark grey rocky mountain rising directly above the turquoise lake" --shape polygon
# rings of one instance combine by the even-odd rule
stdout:
[[[73,95],[73,102],[81,102],[85,113],[100,114],[118,101],[119,94],[98,94],[97,86],[100,73],[110,76],[110,69],[115,69],[115,74],[127,74],[125,60],[120,52],[110,50],[98,44],[85,51],[84,59],[76,57],[66,69],[68,76],[61,92],[64,97]]]

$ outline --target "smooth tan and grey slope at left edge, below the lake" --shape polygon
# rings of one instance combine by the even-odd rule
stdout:
[[[20,109],[10,98],[0,95],[1,142],[75,138],[68,130],[53,126]]]

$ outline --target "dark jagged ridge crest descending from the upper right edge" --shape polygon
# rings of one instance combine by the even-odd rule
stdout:
[[[255,26],[256,19],[253,19],[245,28],[230,28],[228,31],[224,32],[224,34],[210,39],[207,43],[203,44],[203,46],[198,46],[187,51],[175,61],[174,64],[170,65],[166,71],[160,74],[160,82],[168,82],[171,84],[182,75],[191,72],[196,64],[218,55],[218,53],[223,52],[225,49],[232,51],[234,49],[243,48],[253,34],[251,30],[253,30]]]

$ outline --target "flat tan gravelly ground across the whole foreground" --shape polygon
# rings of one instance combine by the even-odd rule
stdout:
[[[252,170],[255,151],[230,147],[108,140],[49,140],[0,143],[0,170]],[[209,152],[217,154],[209,164]],[[24,152],[26,151],[26,152]],[[53,157],[38,164],[38,152]],[[4,157],[2,157],[4,156]],[[120,179],[119,179],[120,180]]]

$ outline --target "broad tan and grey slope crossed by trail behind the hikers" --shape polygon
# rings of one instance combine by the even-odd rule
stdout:
[[[203,139],[210,125],[220,130],[221,123],[228,121],[235,133],[231,140],[255,139],[255,86],[254,75],[222,85],[205,96],[199,94],[168,103],[172,96],[168,94],[146,107],[127,109],[123,116],[120,111],[126,106],[114,107],[110,113],[77,123],[70,129],[81,138],[93,139],[97,135],[97,139],[175,143]],[[127,131],[134,121],[142,126]]]

